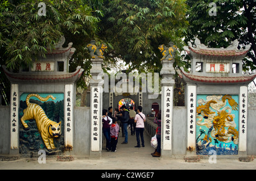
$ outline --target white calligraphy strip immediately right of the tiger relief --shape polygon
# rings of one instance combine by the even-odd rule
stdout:
[[[65,85],[65,148],[73,149],[73,85]]]

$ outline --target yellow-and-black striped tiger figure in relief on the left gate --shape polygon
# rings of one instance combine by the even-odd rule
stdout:
[[[20,119],[25,130],[29,129],[25,120],[35,119],[38,131],[44,141],[44,145],[46,145],[47,150],[52,151],[53,149],[56,149],[53,144],[53,138],[59,137],[61,134],[61,121],[60,123],[56,123],[55,121],[48,119],[42,107],[38,104],[30,103],[30,98],[32,96],[35,96],[43,102],[47,101],[49,98],[52,98],[52,100],[55,100],[56,98],[52,95],[42,98],[38,94],[28,94],[26,98],[27,108],[24,109],[24,115]]]

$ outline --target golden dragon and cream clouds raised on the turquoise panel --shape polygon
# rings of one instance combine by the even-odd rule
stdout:
[[[196,125],[200,127],[200,135],[196,139],[197,149],[205,149],[213,141],[212,138],[214,138],[214,144],[220,141],[233,142],[237,145],[239,133],[234,121],[235,115],[232,113],[232,111],[238,111],[236,100],[231,95],[208,95],[206,100],[199,99],[197,103],[199,106],[196,110]],[[208,128],[208,132],[201,129],[203,126]],[[200,139],[202,134],[205,136]]]

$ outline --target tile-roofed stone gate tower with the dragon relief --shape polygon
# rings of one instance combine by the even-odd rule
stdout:
[[[242,74],[242,59],[250,49],[208,48],[195,40],[185,51],[191,73],[178,70],[185,83],[188,155],[246,154],[247,86],[256,75]]]

